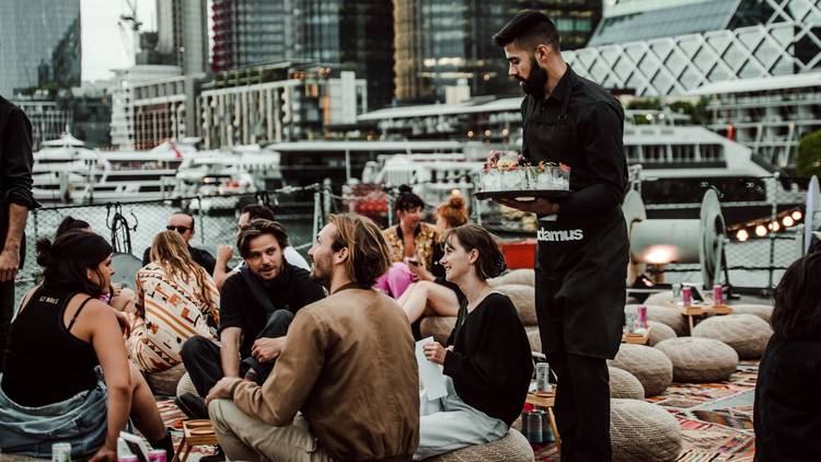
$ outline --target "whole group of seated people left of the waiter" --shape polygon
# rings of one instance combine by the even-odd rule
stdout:
[[[190,245],[194,217],[174,212],[134,289],[112,284],[112,246],[67,217],[38,241],[43,280],[12,324],[0,448],[44,457],[70,442],[73,457],[115,460],[130,417],[172,451],[144,377],[181,363],[196,393],[176,404],[213,423],[212,460],[409,460],[501,438],[533,367],[512,302],[487,284],[505,269],[498,243],[467,224],[461,195],[436,226],[409,188],[395,207],[384,231],[331,216],[310,266],[265,206],[240,212],[217,258]],[[419,395],[412,325],[425,315],[459,316],[446,345],[425,346],[443,366],[440,399]]]

